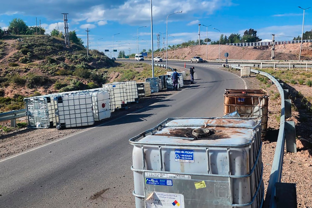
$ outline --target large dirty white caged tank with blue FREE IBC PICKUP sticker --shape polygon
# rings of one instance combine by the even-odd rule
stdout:
[[[260,208],[260,119],[166,119],[129,140],[136,208]]]

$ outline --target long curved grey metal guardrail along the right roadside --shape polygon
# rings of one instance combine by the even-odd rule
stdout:
[[[231,66],[232,68],[241,69],[239,66]],[[255,74],[260,74],[268,77],[277,87],[280,97],[281,97],[281,111],[280,111],[280,130],[278,133],[274,159],[271,168],[271,174],[269,179],[269,184],[266,191],[266,198],[264,201],[263,207],[265,208],[275,208],[276,207],[276,187],[275,184],[279,183],[282,175],[282,166],[283,166],[283,157],[284,157],[284,147],[285,147],[285,138],[286,138],[286,149],[287,152],[296,152],[295,147],[295,138],[290,138],[291,136],[285,136],[285,124],[287,128],[295,128],[295,123],[293,121],[286,121],[285,118],[291,116],[291,104],[288,104],[290,100],[285,100],[285,97],[288,97],[288,90],[284,90],[282,84],[279,83],[279,80],[275,79],[272,75],[251,69],[251,72]],[[289,112],[290,111],[290,112]],[[288,115],[290,114],[290,115]],[[288,129],[287,129],[288,132]],[[292,135],[294,136],[294,135]],[[292,143],[291,143],[292,142]],[[293,145],[291,147],[291,145]],[[289,147],[287,147],[289,146]]]

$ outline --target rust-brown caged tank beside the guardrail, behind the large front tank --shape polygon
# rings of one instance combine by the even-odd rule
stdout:
[[[224,114],[237,111],[241,118],[261,119],[261,138],[268,127],[269,94],[262,89],[225,89]]]

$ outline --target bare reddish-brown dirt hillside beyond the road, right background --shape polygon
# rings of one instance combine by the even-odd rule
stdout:
[[[302,60],[310,60],[312,58],[312,44],[303,44]],[[277,45],[275,49],[275,60],[297,60],[300,51],[300,44]],[[239,46],[220,46],[220,58],[224,59],[224,53],[230,54],[229,59],[239,60],[271,60],[271,48],[266,50],[254,49],[254,47]],[[165,57],[166,52],[158,52],[155,56]],[[186,59],[189,60],[193,56],[200,56],[206,60],[206,45],[190,46],[176,50],[168,51],[169,59]],[[219,58],[219,45],[208,45],[208,60]]]

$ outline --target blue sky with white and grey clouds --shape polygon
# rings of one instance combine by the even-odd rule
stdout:
[[[289,40],[301,36],[303,10],[312,2],[293,0],[153,0],[154,50],[157,49],[156,33],[166,32],[166,17],[169,16],[168,45],[198,39],[198,24],[208,27],[208,37],[218,40],[221,33],[243,34],[253,28],[262,39]],[[2,1],[0,7],[0,27],[5,28],[13,18],[22,18],[28,26],[36,25],[36,17],[41,26],[50,32],[59,27],[63,29],[62,12],[69,13],[69,30],[75,30],[86,45],[86,28],[89,32],[89,47],[111,50],[125,50],[128,54],[136,50],[136,37],[139,27],[139,51],[151,48],[150,0],[17,0]],[[57,24],[58,23],[58,24]],[[305,29],[312,28],[312,8],[305,11]],[[165,34],[163,35],[165,37]],[[206,27],[201,27],[201,38],[206,37]],[[312,38],[312,37],[311,37]],[[143,39],[143,40],[142,40]],[[144,41],[146,40],[146,41]],[[120,41],[119,43],[117,41]],[[162,42],[162,41],[161,41]],[[161,44],[162,45],[162,44]]]

